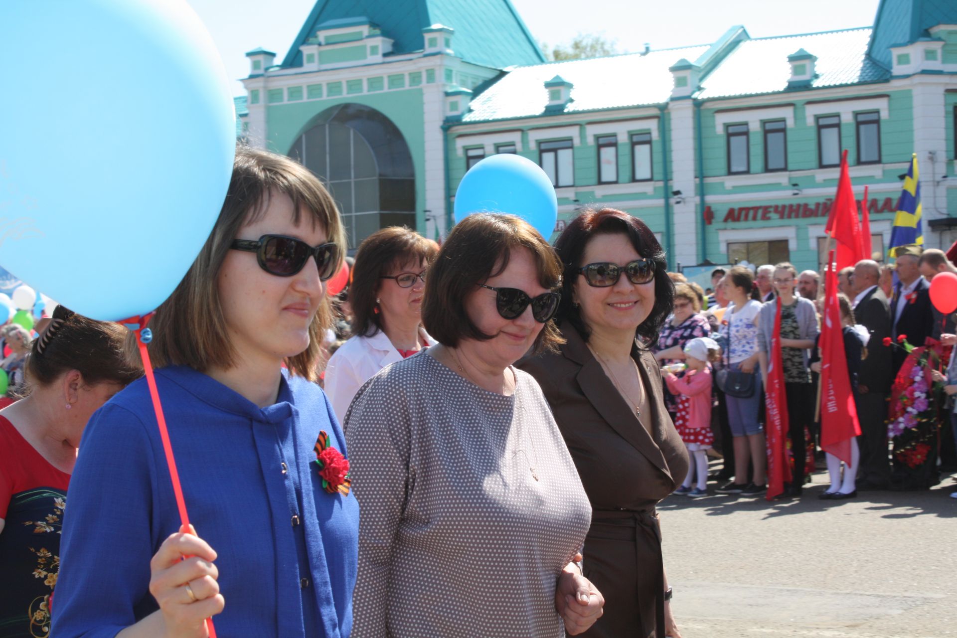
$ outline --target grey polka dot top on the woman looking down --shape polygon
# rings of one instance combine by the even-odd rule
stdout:
[[[422,353],[356,395],[353,638],[565,635],[555,585],[591,508],[541,388],[512,369],[505,397]]]

